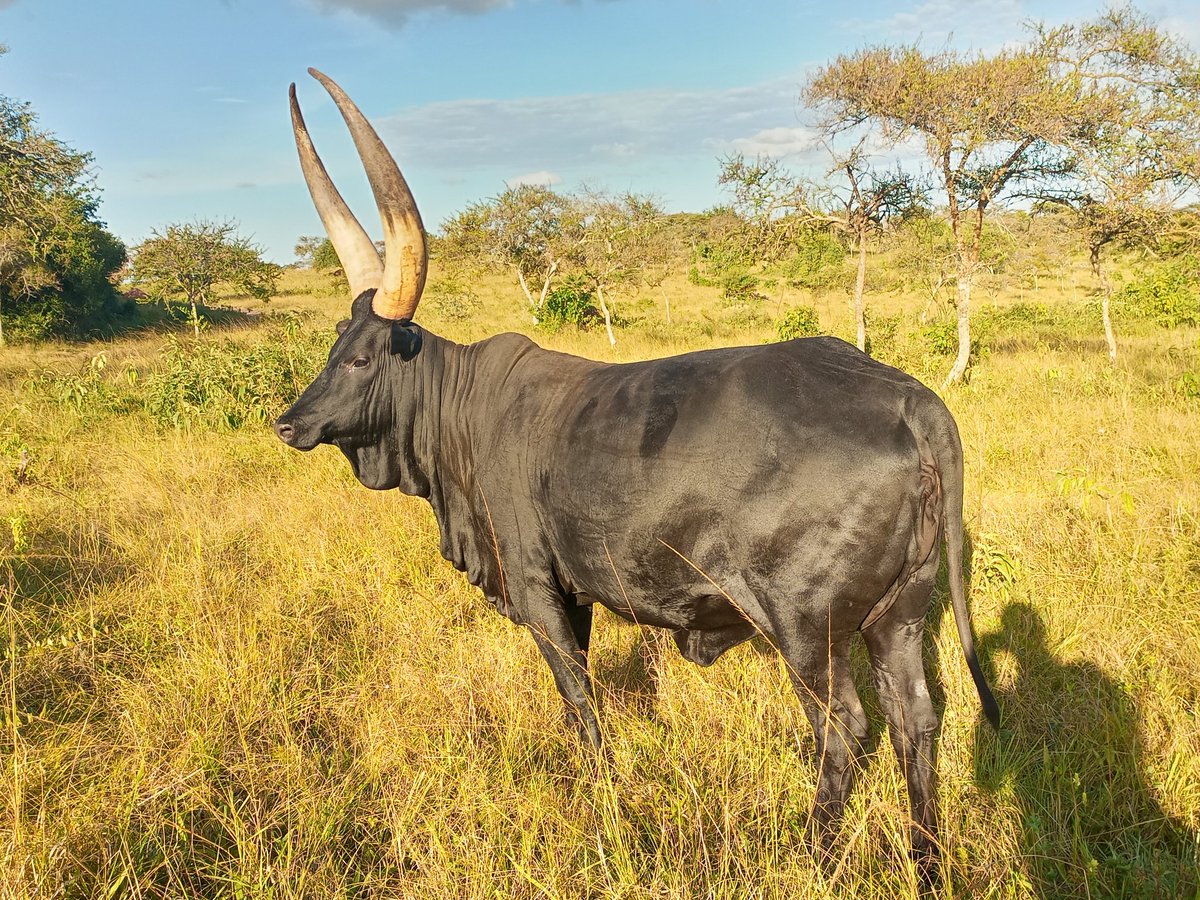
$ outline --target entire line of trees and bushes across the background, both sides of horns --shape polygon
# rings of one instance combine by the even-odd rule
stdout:
[[[995,54],[868,47],[816,71],[802,100],[828,152],[823,176],[728,156],[728,204],[704,214],[667,214],[632,193],[511,186],[442,223],[432,242],[443,277],[509,272],[538,322],[594,320],[616,342],[614,301],[634,289],[661,299],[670,320],[672,275],[752,306],[770,280],[841,284],[850,258],[865,347],[865,294],[886,281],[869,251],[883,248],[892,281],[952,294],[948,382],[970,361],[972,287],[1018,257],[1038,272],[1084,254],[1112,359],[1114,251],[1166,260],[1144,272],[1145,302],[1183,318],[1194,304],[1198,217],[1186,204],[1200,184],[1200,61],[1132,7],[1031,25]],[[0,96],[0,337],[88,334],[119,311],[116,281],[176,304],[197,331],[216,284],[271,293],[277,269],[230,222],[170,224],[127,253],[97,217],[89,163]],[[1038,241],[1014,244],[1014,208]],[[298,252],[336,265],[323,241],[301,239]],[[457,293],[466,306],[469,292]]]

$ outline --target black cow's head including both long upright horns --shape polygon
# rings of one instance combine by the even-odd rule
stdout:
[[[413,406],[406,370],[421,349],[412,324],[425,287],[428,253],[425,230],[404,176],[374,128],[331,79],[310,68],[332,96],[354,138],[383,218],[385,259],[334,187],[300,114],[295,85],[289,91],[300,167],[317,212],[350,283],[350,318],[337,326],[329,361],[300,398],[275,422],[289,446],[311,450],[334,444],[367,487],[402,485],[397,424]]]

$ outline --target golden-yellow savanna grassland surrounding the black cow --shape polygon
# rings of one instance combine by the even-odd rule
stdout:
[[[944,392],[1004,716],[983,722],[940,590],[946,895],[1200,896],[1200,332],[1118,319],[1111,366],[1086,287],[978,290],[979,359]],[[832,870],[804,841],[812,738],[763,643],[701,670],[600,614],[593,758],[424,502],[270,433],[347,307],[314,276],[284,288],[198,340],[0,353],[0,895],[916,893],[863,658],[880,750]],[[808,300],[734,316],[715,289],[666,294],[671,325],[658,294],[622,305],[614,349],[539,331],[500,280],[478,302],[432,292],[420,320],[631,360],[774,340]],[[940,384],[922,301],[870,302],[876,355]],[[845,294],[816,304],[851,334]]]

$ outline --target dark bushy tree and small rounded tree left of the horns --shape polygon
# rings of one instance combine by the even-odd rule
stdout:
[[[127,248],[100,220],[91,162],[40,128],[29,103],[0,95],[0,344],[112,331],[134,298],[198,334],[217,284],[274,292],[280,268],[234,222],[172,223]]]

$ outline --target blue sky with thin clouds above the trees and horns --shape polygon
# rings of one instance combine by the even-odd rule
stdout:
[[[719,156],[818,164],[798,95],[871,43],[996,49],[1078,0],[0,0],[0,94],[95,156],[101,215],[151,228],[234,218],[266,256],[322,233],[287,88],[338,187],[376,214],[341,119],[306,74],[350,94],[400,161],[431,230],[520,180],[722,200]],[[1200,47],[1195,0],[1140,8]]]

